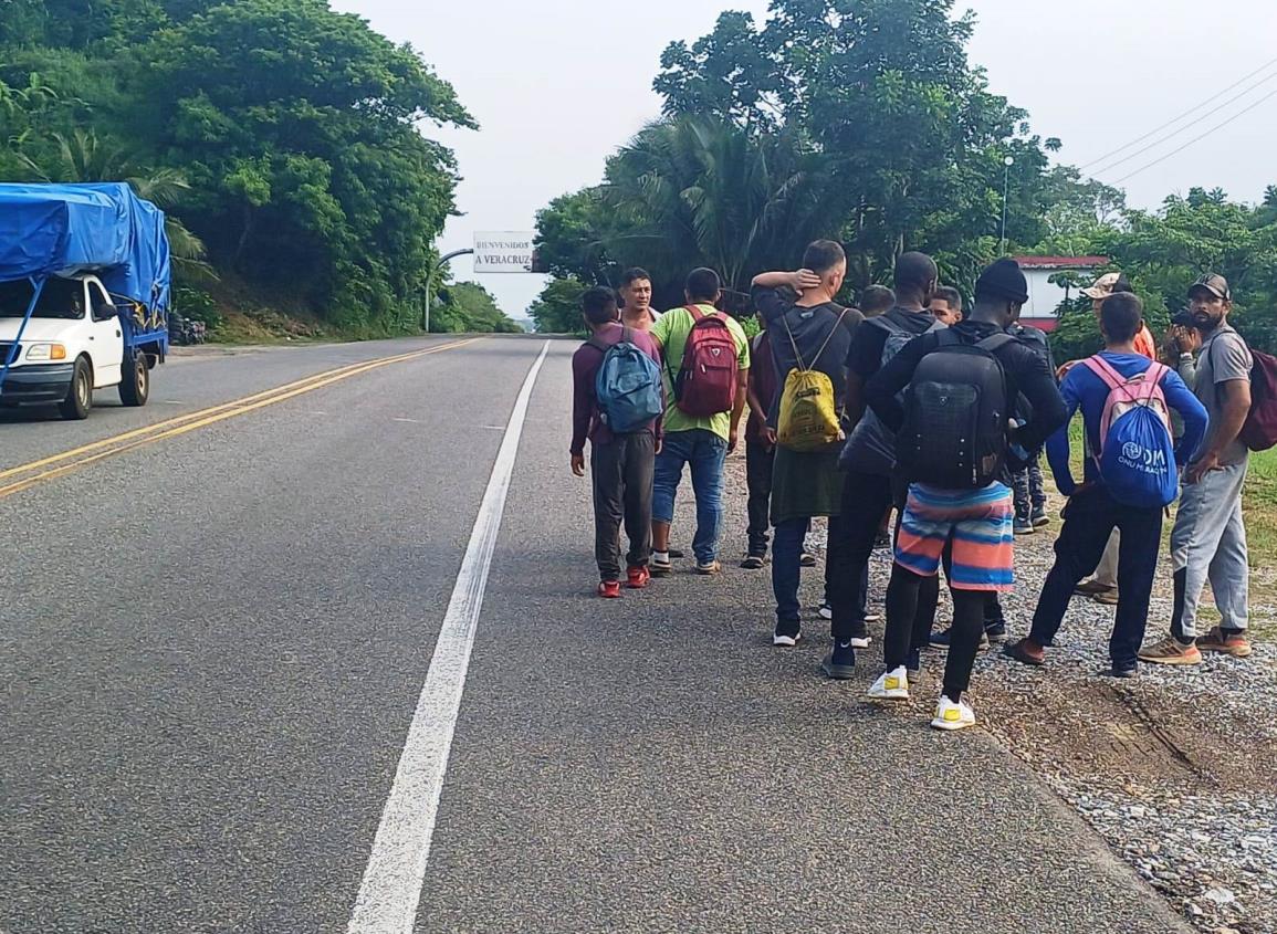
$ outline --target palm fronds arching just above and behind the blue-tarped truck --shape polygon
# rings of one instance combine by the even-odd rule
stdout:
[[[190,182],[175,168],[144,168],[134,161],[128,147],[103,139],[93,130],[74,130],[70,135],[51,134],[55,156],[38,163],[23,156],[27,166],[42,181],[125,181],[143,200],[165,212],[165,234],[174,265],[190,278],[216,279],[217,273],[206,262],[208,249],[170,208],[190,191]]]

